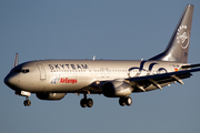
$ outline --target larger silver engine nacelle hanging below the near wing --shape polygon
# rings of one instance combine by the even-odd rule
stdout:
[[[133,89],[124,81],[111,81],[104,83],[102,93],[108,98],[128,96],[132,93]]]

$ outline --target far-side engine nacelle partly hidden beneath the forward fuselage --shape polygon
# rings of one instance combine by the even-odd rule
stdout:
[[[37,93],[36,95],[40,100],[61,100],[66,93]]]

